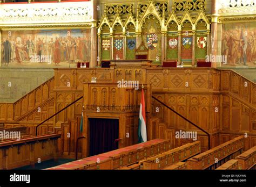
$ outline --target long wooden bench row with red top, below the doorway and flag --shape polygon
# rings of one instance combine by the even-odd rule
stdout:
[[[170,140],[154,139],[48,169],[118,169],[170,149]]]

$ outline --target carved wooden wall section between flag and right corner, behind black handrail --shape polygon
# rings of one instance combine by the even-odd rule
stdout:
[[[212,135],[212,147],[218,145],[219,118],[215,107],[219,107],[219,96],[216,93],[219,91],[219,70],[147,69],[147,81],[152,84],[154,97],[209,132]],[[201,147],[203,150],[207,149],[208,139],[205,133],[154,99],[151,107],[152,116],[159,119],[158,124],[154,125],[154,128],[158,128],[158,136],[152,138],[174,138],[174,133],[180,130],[198,131]],[[190,141],[175,139],[173,146],[177,147]]]

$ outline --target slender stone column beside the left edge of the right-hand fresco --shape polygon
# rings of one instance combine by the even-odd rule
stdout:
[[[217,0],[212,0],[212,24],[211,24],[211,55],[217,55],[218,48],[218,10],[217,10]],[[211,59],[210,59],[211,60]],[[212,62],[212,67],[216,68],[217,63]]]

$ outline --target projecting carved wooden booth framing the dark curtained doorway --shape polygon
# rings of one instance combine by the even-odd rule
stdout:
[[[139,89],[118,88],[117,83],[85,83],[84,84],[84,132],[83,156],[88,156],[89,137],[88,118],[119,119],[119,148],[138,142],[138,114],[142,85]],[[146,116],[150,119],[151,88],[144,85]],[[149,120],[147,121],[147,124]],[[127,136],[127,133],[129,134]]]

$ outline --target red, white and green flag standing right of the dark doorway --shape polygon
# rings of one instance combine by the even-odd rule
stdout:
[[[147,141],[147,130],[146,130],[146,111],[145,111],[145,99],[144,91],[142,89],[142,99],[140,99],[139,107],[139,143]]]

